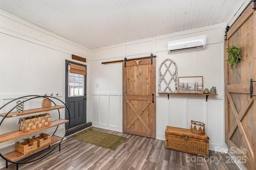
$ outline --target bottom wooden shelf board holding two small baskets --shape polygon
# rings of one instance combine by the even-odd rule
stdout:
[[[9,152],[7,154],[4,154],[4,157],[6,157],[7,159],[11,160],[11,161],[16,161],[16,160],[19,160],[21,158],[24,158],[30,154],[33,154],[43,148],[46,148],[47,146],[49,146],[50,144],[54,144],[56,142],[59,142],[62,138],[58,137],[58,136],[51,136],[51,142],[49,144],[46,144],[42,147],[38,147],[36,150],[32,150],[31,152],[28,152],[27,154],[21,154],[20,152],[17,152],[17,151],[12,151],[12,152]]]

